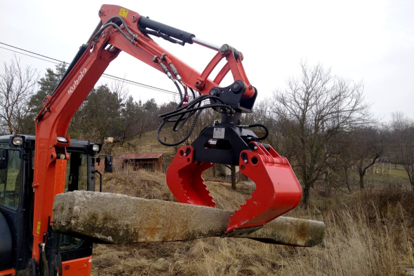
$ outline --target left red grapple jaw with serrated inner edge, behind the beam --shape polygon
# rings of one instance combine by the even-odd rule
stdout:
[[[193,161],[193,152],[192,146],[179,148],[167,170],[168,188],[181,203],[215,207],[202,177],[215,164]]]

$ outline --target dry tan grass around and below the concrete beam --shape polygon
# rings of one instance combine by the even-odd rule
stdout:
[[[105,175],[104,190],[174,200],[165,175],[140,170]],[[235,209],[254,187],[208,181],[219,208]],[[199,239],[128,246],[96,245],[92,275],[404,275],[414,266],[414,195],[402,184],[316,199],[294,217],[323,220],[326,237],[314,248],[248,239]]]

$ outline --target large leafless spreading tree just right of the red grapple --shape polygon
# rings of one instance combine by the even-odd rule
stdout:
[[[288,88],[274,93],[280,130],[293,150],[293,165],[304,186],[304,204],[310,189],[326,174],[330,152],[326,145],[339,132],[370,119],[362,97],[362,83],[341,79],[321,64],[300,63],[302,76],[290,78]]]

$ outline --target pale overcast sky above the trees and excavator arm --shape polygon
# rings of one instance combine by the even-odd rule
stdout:
[[[322,63],[333,74],[364,83],[372,112],[414,119],[414,1],[114,1],[217,45],[228,43],[244,54],[244,68],[259,92],[271,97],[299,75],[299,62]],[[0,42],[66,62],[99,22],[101,1],[0,0]],[[166,50],[202,71],[215,55],[196,44],[178,46],[155,38]],[[14,53],[0,44],[0,61]],[[53,63],[17,54],[23,65],[44,76]],[[3,66],[0,68],[3,72]],[[106,73],[175,91],[168,78],[121,53]],[[109,79],[101,78],[108,83]],[[224,83],[227,86],[230,83]],[[135,99],[172,96],[128,86]]]

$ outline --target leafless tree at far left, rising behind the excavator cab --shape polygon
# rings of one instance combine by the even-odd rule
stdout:
[[[22,68],[17,57],[4,63],[4,72],[0,75],[0,128],[3,132],[20,132],[30,115],[29,101],[38,79],[39,72],[30,66]]]

